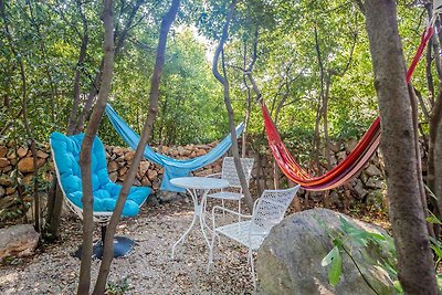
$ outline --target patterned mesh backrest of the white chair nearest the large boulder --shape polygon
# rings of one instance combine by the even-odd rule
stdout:
[[[264,190],[253,208],[252,224],[269,232],[284,219],[299,186],[284,190]]]

